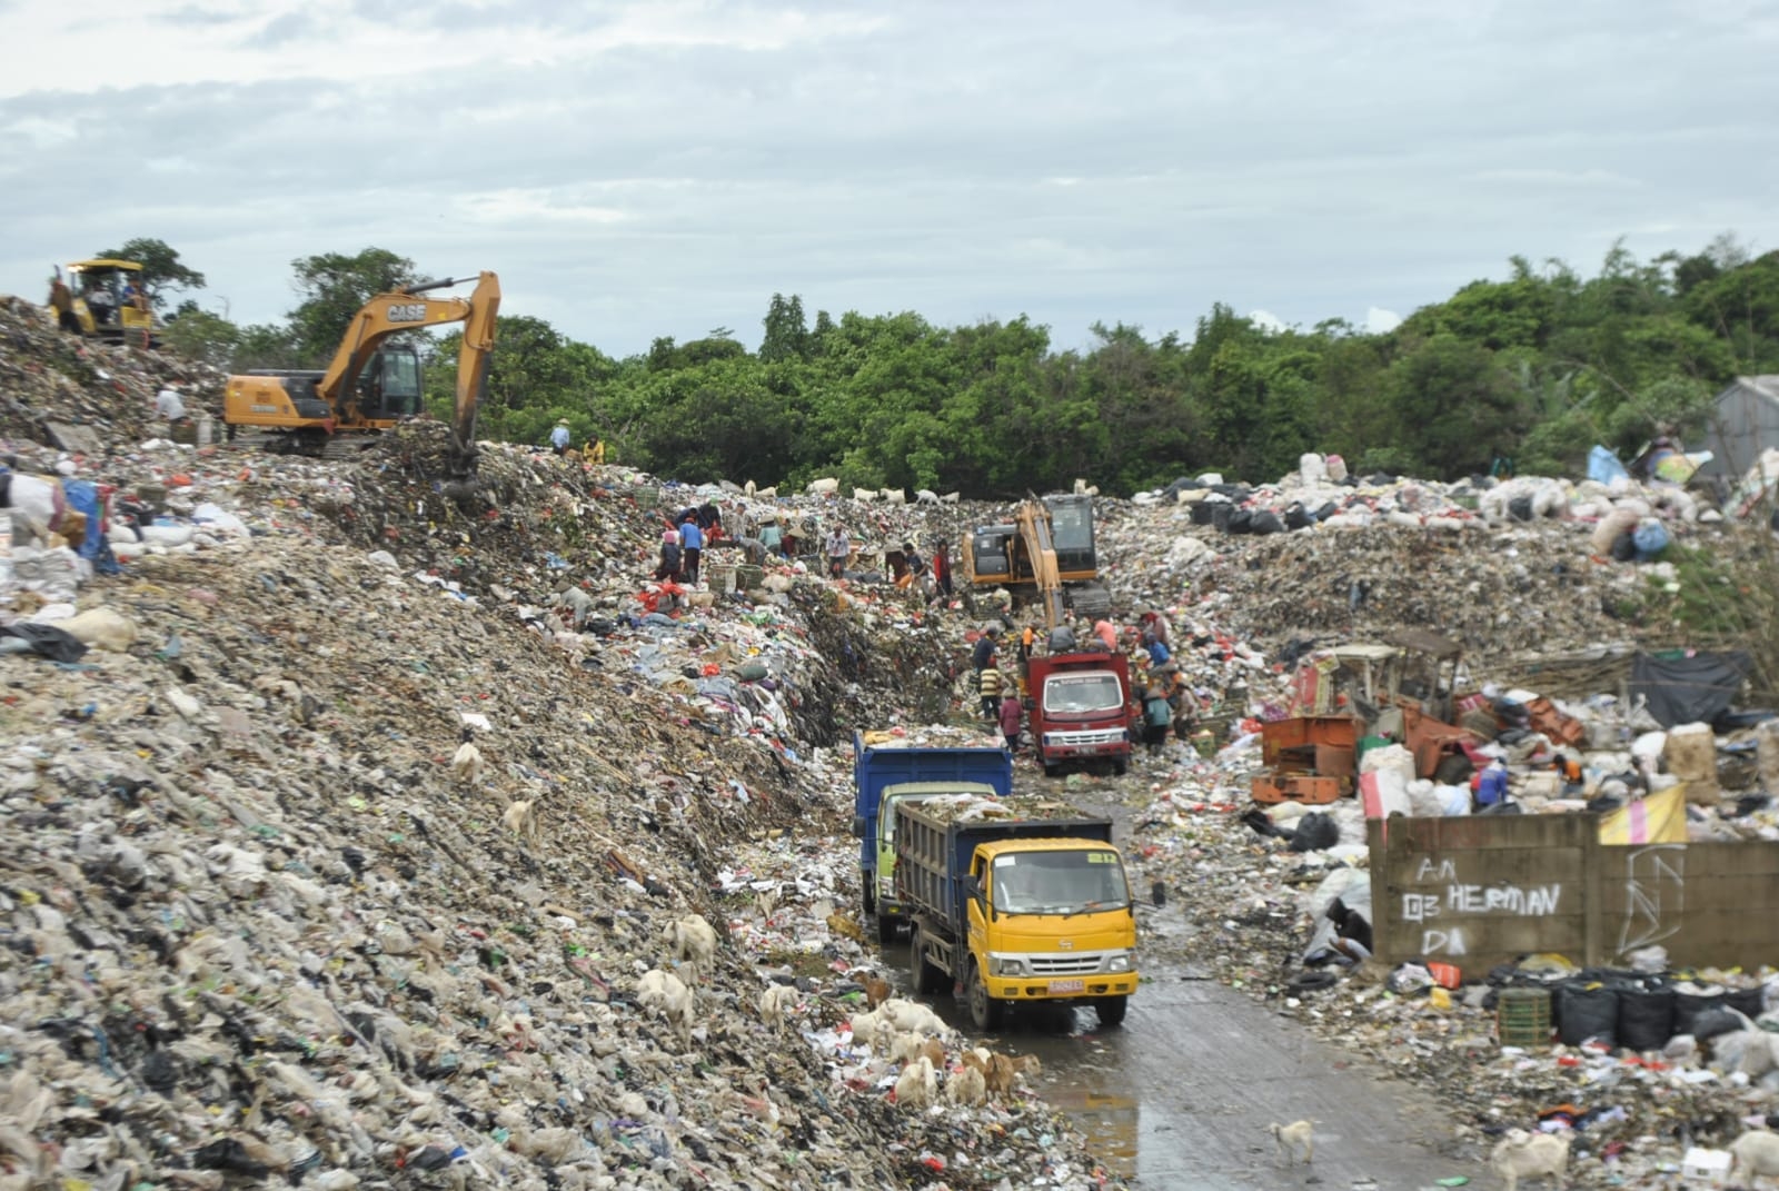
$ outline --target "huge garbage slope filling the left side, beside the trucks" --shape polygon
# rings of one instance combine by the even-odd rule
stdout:
[[[109,438],[62,349],[7,360],[144,516],[0,650],[0,1184],[1107,1186],[968,1040],[927,1082],[852,1029],[827,746],[950,630],[776,564],[665,593],[639,490],[678,493],[489,447],[457,502],[423,424],[350,463]]]

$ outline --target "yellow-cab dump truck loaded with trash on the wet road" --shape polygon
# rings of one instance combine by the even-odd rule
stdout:
[[[1039,1001],[1123,1024],[1139,981],[1137,908],[1110,819],[1032,794],[932,798],[895,817],[916,993],[961,993],[980,1031]]]

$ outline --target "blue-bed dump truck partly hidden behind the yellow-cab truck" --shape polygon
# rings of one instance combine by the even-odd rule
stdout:
[[[943,732],[929,730],[925,739]],[[954,732],[957,744],[911,744],[886,732],[852,733],[852,835],[859,840],[859,888],[877,938],[893,944],[907,920],[895,890],[895,805],[941,794],[986,798],[1012,792],[1012,753],[978,744],[980,733]],[[998,737],[996,737],[998,739]]]

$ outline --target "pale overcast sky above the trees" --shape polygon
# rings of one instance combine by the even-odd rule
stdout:
[[[1779,0],[0,0],[0,292],[155,237],[493,269],[626,356],[817,310],[1389,326],[1510,255],[1779,247]]]

